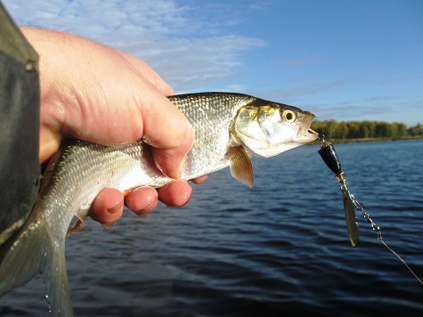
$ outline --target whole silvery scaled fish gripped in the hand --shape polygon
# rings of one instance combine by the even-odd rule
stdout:
[[[253,186],[251,158],[270,158],[312,142],[314,115],[242,93],[189,93],[168,97],[190,120],[195,137],[181,178],[191,180],[230,167]],[[105,187],[122,192],[160,188],[172,179],[152,163],[150,146],[139,141],[105,146],[81,140],[63,144],[46,167],[27,222],[0,249],[0,297],[42,273],[53,315],[72,316],[65,239],[84,226],[91,204]],[[69,229],[72,219],[76,226]]]

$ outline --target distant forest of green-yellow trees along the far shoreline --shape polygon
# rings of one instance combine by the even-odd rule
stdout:
[[[312,129],[329,139],[362,139],[362,138],[396,138],[422,136],[423,126],[407,128],[403,123],[381,121],[348,121],[338,122],[314,121]]]

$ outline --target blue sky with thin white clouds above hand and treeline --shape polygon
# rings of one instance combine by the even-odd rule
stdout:
[[[133,53],[176,93],[248,93],[321,120],[423,123],[419,0],[3,3],[19,25]]]

